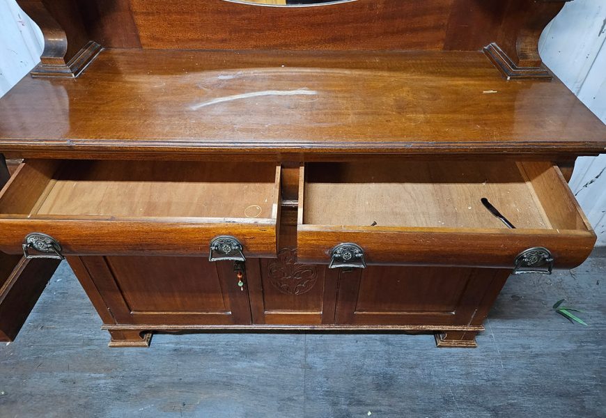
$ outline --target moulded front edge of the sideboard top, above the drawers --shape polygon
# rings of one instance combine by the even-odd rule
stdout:
[[[168,155],[181,153],[191,158],[194,154],[222,155],[240,154],[245,151],[251,153],[270,154],[270,160],[275,160],[275,155],[280,154],[288,159],[310,157],[314,154],[336,155],[343,153],[363,154],[428,154],[428,153],[458,153],[465,155],[473,154],[498,154],[504,153],[516,155],[549,154],[561,158],[562,155],[598,155],[604,152],[603,144],[591,141],[359,141],[345,142],[332,141],[326,143],[311,141],[231,141],[229,146],[219,141],[146,141],[146,140],[118,140],[118,139],[36,139],[36,138],[8,138],[0,137],[2,149],[6,152],[19,153],[20,156],[30,158],[53,158],[90,159],[92,153],[97,153],[102,160],[120,160],[125,155],[133,159],[157,160],[155,153],[160,153],[160,159],[164,160]],[[113,150],[111,147],[116,147]],[[125,151],[127,148],[127,151]],[[119,158],[118,158],[119,156]],[[286,158],[285,157],[285,158]],[[335,157],[334,155],[331,157]],[[245,158],[249,160],[249,157]]]

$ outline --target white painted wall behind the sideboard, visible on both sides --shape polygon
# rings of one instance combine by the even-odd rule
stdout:
[[[606,1],[574,0],[545,29],[545,64],[606,123]],[[0,0],[0,97],[40,61],[42,33],[17,6]],[[549,106],[549,103],[545,103]],[[577,161],[570,187],[606,245],[606,155]]]

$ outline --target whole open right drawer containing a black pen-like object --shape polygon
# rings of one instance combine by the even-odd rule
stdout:
[[[482,198],[515,229],[495,217]],[[352,266],[363,260],[520,271],[537,265],[550,271],[579,265],[595,241],[559,168],[547,162],[346,162],[300,168],[297,253],[302,263],[347,265],[338,246],[354,243],[359,249],[345,251],[357,258]]]

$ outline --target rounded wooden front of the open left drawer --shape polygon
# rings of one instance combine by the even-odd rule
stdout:
[[[220,235],[236,238],[244,256],[276,254],[275,224],[186,222],[0,219],[0,251],[21,254],[24,238],[42,232],[59,242],[63,255],[208,256],[210,241]]]

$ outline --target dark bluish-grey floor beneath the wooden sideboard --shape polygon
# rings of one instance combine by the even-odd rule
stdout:
[[[109,335],[61,265],[0,347],[0,417],[606,417],[606,254],[512,277],[479,348],[398,334]],[[552,311],[566,298],[589,327]]]

